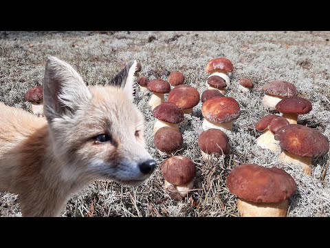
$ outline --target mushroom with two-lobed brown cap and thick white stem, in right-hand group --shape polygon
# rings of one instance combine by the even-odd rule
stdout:
[[[276,152],[281,149],[279,141],[275,141],[274,134],[278,128],[283,125],[288,125],[289,121],[282,116],[276,114],[268,114],[263,116],[254,127],[256,130],[262,131],[263,134],[256,138],[256,144],[263,149],[270,149],[272,152]]]

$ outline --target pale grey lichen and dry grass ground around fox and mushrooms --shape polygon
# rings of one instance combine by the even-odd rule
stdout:
[[[166,79],[173,70],[186,83],[206,90],[206,63],[225,56],[234,64],[228,96],[241,107],[241,116],[228,134],[232,150],[225,158],[201,159],[197,137],[201,132],[201,103],[180,125],[184,148],[197,165],[195,189],[181,202],[164,192],[159,168],[140,187],[97,181],[67,203],[63,216],[238,216],[236,197],[225,187],[225,178],[240,163],[282,167],[291,174],[298,191],[290,200],[288,216],[330,216],[329,154],[313,160],[314,174],[306,176],[294,166],[284,166],[278,154],[260,149],[254,123],[267,110],[261,104],[264,83],[281,79],[296,85],[299,96],[312,102],[313,110],[299,123],[314,127],[330,138],[329,32],[0,32],[0,101],[30,111],[23,94],[42,85],[47,54],[74,65],[89,83],[104,84],[122,64],[137,59],[149,79]],[[326,40],[328,39],[328,41]],[[250,93],[239,91],[238,81],[255,83]],[[153,118],[148,110],[151,93],[136,87],[135,103],[146,120],[146,145],[158,165],[166,157],[153,146]],[[17,196],[0,193],[0,216],[21,216]]]

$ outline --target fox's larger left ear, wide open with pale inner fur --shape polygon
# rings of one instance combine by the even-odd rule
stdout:
[[[81,76],[68,63],[48,56],[43,80],[44,114],[47,120],[72,116],[91,99],[91,92]]]

